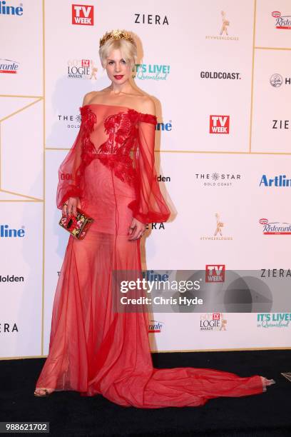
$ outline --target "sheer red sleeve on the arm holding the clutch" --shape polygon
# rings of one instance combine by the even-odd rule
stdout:
[[[91,152],[95,150],[89,139],[93,131],[96,116],[88,106],[82,106],[81,126],[70,151],[58,168],[58,186],[56,189],[56,206],[62,209],[69,197],[81,198],[83,195],[83,171],[91,161]]]

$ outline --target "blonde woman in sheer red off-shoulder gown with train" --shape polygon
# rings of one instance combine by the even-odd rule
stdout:
[[[155,106],[130,82],[136,43],[126,31],[101,39],[111,86],[86,94],[81,127],[58,174],[57,206],[94,218],[72,236],[53,302],[49,353],[36,396],[102,394],[138,408],[200,406],[218,396],[262,393],[272,383],[209,368],[153,368],[148,313],[112,311],[112,271],[141,271],[146,223],[170,216],[156,180]]]

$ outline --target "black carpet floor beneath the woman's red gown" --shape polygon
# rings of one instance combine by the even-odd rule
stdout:
[[[275,379],[266,393],[202,407],[121,407],[103,396],[58,391],[36,398],[44,359],[0,361],[0,421],[48,421],[51,436],[291,436],[291,350],[153,353],[158,368],[205,367]]]

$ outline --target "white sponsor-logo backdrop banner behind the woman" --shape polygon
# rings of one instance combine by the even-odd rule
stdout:
[[[150,223],[143,267],[290,278],[291,4],[288,0],[0,1],[0,356],[46,356],[68,241],[58,166],[84,94],[110,82],[111,29],[138,41],[155,99],[155,163],[172,211]],[[291,347],[281,312],[152,313],[153,351]]]

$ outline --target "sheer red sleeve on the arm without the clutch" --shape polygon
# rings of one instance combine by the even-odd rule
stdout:
[[[133,210],[133,217],[142,223],[161,223],[170,216],[155,170],[156,123],[155,116],[139,114],[138,147],[133,155],[137,171],[136,201],[129,206]]]

